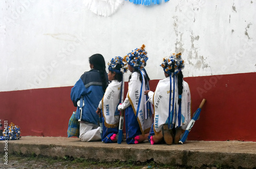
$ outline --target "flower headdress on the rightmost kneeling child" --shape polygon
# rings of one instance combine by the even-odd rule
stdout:
[[[170,57],[164,58],[160,66],[167,74],[178,74],[182,69],[184,69],[184,61],[181,58],[181,53],[173,53]]]

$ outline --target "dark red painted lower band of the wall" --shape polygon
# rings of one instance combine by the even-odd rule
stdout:
[[[189,140],[245,140],[256,142],[256,73],[186,77],[196,111],[207,101],[188,135]],[[151,90],[159,80],[151,80]],[[0,92],[0,119],[20,126],[21,135],[67,136],[76,107],[72,87]],[[125,83],[127,92],[127,82]]]

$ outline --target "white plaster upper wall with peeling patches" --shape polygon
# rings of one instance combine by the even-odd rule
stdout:
[[[92,54],[101,53],[107,63],[142,44],[151,79],[164,77],[162,58],[177,52],[185,77],[255,72],[255,11],[255,0],[147,7],[123,1],[103,17],[79,0],[1,0],[0,91],[73,86],[90,69]]]

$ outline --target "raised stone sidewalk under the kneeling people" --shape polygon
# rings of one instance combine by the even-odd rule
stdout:
[[[163,164],[191,167],[229,166],[256,167],[256,142],[205,142],[187,141],[183,145],[137,145],[80,142],[78,138],[23,136],[19,140],[0,141],[0,153],[36,154],[45,156],[73,156],[99,161],[154,160]]]

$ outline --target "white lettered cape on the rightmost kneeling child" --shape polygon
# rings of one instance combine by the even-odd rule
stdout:
[[[158,82],[156,91],[153,96],[153,105],[154,105],[154,114],[155,114],[154,130],[156,132],[161,131],[162,126],[164,124],[168,124],[168,122],[170,125],[175,124],[175,127],[177,127],[180,121],[181,128],[186,129],[186,126],[190,121],[191,97],[190,97],[188,83],[183,80],[183,92],[182,92],[182,99],[181,99],[181,117],[178,118],[178,109],[179,109],[178,83],[177,83],[177,78],[171,77],[171,80],[172,80],[171,92],[170,92],[170,77],[167,77]]]

